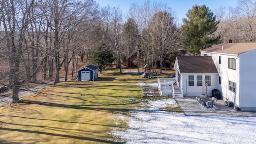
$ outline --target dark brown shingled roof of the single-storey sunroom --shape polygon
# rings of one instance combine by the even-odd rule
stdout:
[[[177,56],[180,73],[218,73],[211,56]]]

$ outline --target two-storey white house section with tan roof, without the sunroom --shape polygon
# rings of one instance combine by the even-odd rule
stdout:
[[[212,57],[223,100],[241,111],[256,111],[256,43],[222,43],[200,52]]]

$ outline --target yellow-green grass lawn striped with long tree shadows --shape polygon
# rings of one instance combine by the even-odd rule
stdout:
[[[157,78],[118,72],[104,71],[96,81],[62,82],[23,98],[20,104],[0,108],[0,143],[122,143],[111,131],[126,128],[126,120],[110,116],[128,117],[136,103],[148,99],[142,98],[138,83],[156,83]]]

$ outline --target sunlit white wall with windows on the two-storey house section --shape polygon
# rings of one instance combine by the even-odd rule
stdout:
[[[230,100],[234,102],[234,105],[240,105],[240,60],[238,55],[228,55],[228,54],[214,54],[214,53],[206,53],[201,52],[201,55],[207,54],[208,56],[212,56],[212,60],[216,66],[216,69],[221,77],[221,84],[219,84],[218,80],[218,90],[220,94],[223,96],[223,99]],[[219,56],[221,56],[221,64],[219,64]],[[228,58],[234,58],[236,60],[236,70],[228,68]],[[228,90],[228,81],[232,81],[236,83],[236,93]]]

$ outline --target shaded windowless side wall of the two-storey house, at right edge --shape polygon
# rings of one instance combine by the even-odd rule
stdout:
[[[241,55],[240,106],[256,107],[256,52]]]

